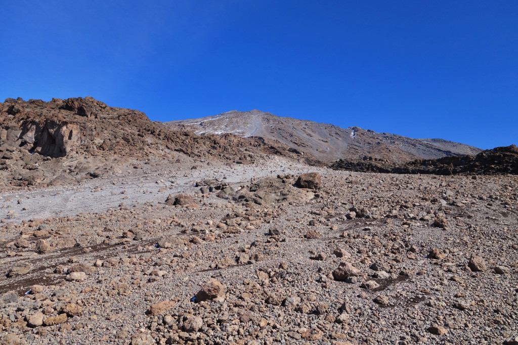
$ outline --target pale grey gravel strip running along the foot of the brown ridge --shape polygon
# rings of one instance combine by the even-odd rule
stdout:
[[[137,175],[88,180],[78,186],[2,193],[0,207],[3,209],[0,209],[0,214],[3,213],[1,218],[8,222],[19,223],[36,218],[67,217],[81,212],[103,212],[118,208],[121,203],[138,207],[145,203],[164,202],[169,194],[192,192],[199,180],[225,178],[223,181],[229,184],[247,183],[251,178],[275,176],[286,169],[297,173],[315,170],[277,157],[261,166],[215,164],[194,170],[178,166],[160,167]],[[11,210],[14,212],[9,215]]]

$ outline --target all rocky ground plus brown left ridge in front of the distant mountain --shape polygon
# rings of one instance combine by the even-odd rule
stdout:
[[[1,344],[518,344],[515,147],[345,171],[105,106],[1,106]]]

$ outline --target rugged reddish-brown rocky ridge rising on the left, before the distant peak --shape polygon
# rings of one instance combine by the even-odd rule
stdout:
[[[92,97],[0,103],[3,189],[77,184],[182,160],[252,164],[267,155],[319,164],[275,140],[171,131],[138,110],[109,107]]]

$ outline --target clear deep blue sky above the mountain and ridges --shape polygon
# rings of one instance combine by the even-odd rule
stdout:
[[[518,2],[9,1],[0,100],[93,96],[169,121],[260,109],[518,144]]]

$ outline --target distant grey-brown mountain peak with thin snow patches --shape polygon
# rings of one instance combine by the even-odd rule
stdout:
[[[359,127],[344,129],[332,124],[278,117],[259,110],[229,111],[165,124],[174,130],[189,130],[200,135],[232,133],[242,137],[276,139],[325,162],[361,160],[370,156],[377,161],[401,164],[415,159],[474,155],[481,151],[442,139],[413,139]]]

